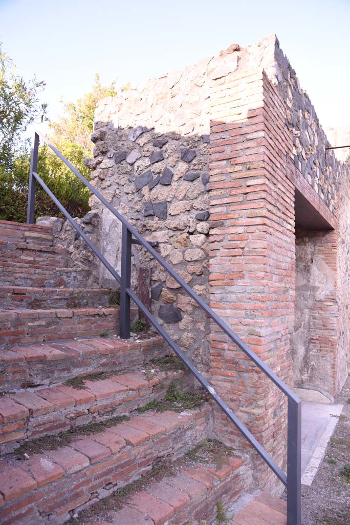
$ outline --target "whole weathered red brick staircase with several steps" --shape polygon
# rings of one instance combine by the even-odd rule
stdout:
[[[1,525],[223,518],[251,472],[215,455],[212,404],[162,338],[120,340],[108,290],[67,261],[49,227],[0,221]],[[232,523],[285,525],[285,503],[260,495]]]

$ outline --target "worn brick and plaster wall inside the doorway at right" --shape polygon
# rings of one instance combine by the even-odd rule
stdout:
[[[330,400],[337,391],[340,330],[336,230],[296,232],[296,324],[292,340],[294,385]]]

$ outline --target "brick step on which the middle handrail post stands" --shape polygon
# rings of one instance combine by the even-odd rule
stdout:
[[[115,337],[13,346],[0,350],[0,391],[48,386],[92,372],[133,370],[166,353],[169,347],[160,336],[137,342]]]

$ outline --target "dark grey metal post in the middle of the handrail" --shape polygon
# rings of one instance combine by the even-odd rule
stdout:
[[[121,262],[121,313],[120,313],[120,337],[130,337],[130,297],[126,289],[131,283],[131,246],[132,234],[128,227],[122,227],[122,262]]]

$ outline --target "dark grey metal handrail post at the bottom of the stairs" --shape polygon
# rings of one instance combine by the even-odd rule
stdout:
[[[301,525],[301,401],[288,398],[287,525]]]

